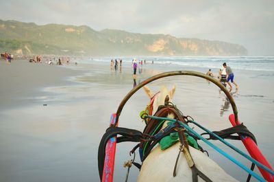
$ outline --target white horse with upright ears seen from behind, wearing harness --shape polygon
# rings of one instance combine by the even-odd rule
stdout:
[[[169,96],[169,101],[171,101],[175,93],[175,87],[173,87],[171,91],[168,91],[166,87],[162,87],[160,93],[156,95],[148,87],[144,87],[144,89],[150,99],[154,96],[152,115],[157,111],[158,106],[164,105],[166,95]],[[168,117],[174,118],[173,115],[169,115]],[[165,127],[166,124],[162,126],[162,128]],[[184,152],[181,152],[179,156],[176,168],[177,175],[173,177],[179,146],[179,141],[166,150],[161,150],[160,146],[155,146],[142,163],[138,181],[192,181],[192,170],[188,167]],[[192,148],[191,146],[189,146],[189,152],[196,168],[205,174],[211,181],[236,181],[236,179],[229,176],[229,174],[203,152]],[[204,180],[198,175],[198,181]]]

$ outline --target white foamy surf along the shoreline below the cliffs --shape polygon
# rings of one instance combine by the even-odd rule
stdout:
[[[192,67],[192,68],[211,68],[219,69],[223,62],[233,69],[251,70],[251,71],[274,71],[274,56],[174,56],[174,57],[137,57],[138,60],[153,60],[155,65],[171,65],[174,67]],[[115,58],[102,57],[92,58],[91,60],[82,60],[83,63],[104,62],[109,64],[110,60]],[[131,57],[119,57],[123,64],[130,65]]]

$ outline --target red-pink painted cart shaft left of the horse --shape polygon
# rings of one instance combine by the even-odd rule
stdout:
[[[110,126],[115,123],[116,113],[110,117]],[[118,126],[118,123],[116,124]],[[108,144],[105,148],[105,162],[103,164],[103,177],[102,181],[112,182],[114,177],[114,162],[116,152],[116,137],[112,137],[108,140]]]

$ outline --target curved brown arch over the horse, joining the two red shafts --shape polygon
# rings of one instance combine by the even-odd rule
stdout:
[[[230,104],[232,104],[235,121],[238,122],[238,110],[237,110],[236,103],[234,102],[232,95],[229,93],[229,91],[227,91],[227,89],[223,86],[223,84],[221,84],[221,82],[219,82],[219,80],[216,80],[216,79],[212,78],[211,76],[208,76],[204,73],[199,73],[197,71],[169,71],[169,72],[160,73],[158,75],[152,76],[151,78],[148,78],[147,80],[141,82],[136,87],[134,87],[131,91],[129,91],[129,93],[127,93],[127,95],[125,95],[125,98],[123,98],[122,102],[120,103],[120,105],[118,107],[118,110],[116,111],[117,116],[116,116],[116,121],[113,124],[113,126],[116,126],[117,122],[119,121],[119,116],[121,115],[121,112],[123,110],[123,107],[127,103],[127,100],[129,100],[129,98],[131,98],[132,95],[134,93],[136,93],[136,91],[138,91],[140,88],[144,87],[146,84],[153,82],[154,80],[158,80],[160,78],[164,78],[164,77],[168,77],[168,76],[180,76],[180,75],[197,76],[197,77],[209,80],[210,82],[216,84],[216,86],[218,86],[225,93],[225,95],[229,99]]]

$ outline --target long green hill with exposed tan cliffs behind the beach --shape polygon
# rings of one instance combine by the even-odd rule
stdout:
[[[245,56],[241,45],[82,25],[36,25],[0,20],[0,52],[86,56]]]

